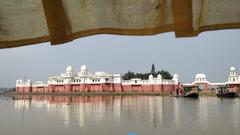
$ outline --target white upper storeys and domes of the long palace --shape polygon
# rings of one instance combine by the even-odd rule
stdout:
[[[37,86],[44,87],[48,85],[64,85],[64,84],[100,84],[100,83],[117,83],[123,85],[154,85],[154,84],[179,84],[179,76],[174,74],[173,79],[162,79],[159,74],[156,78],[153,75],[149,79],[142,80],[140,78],[133,78],[131,80],[122,80],[120,74],[111,74],[106,72],[88,72],[86,65],[82,65],[80,71],[74,73],[72,66],[66,68],[66,72],[60,76],[51,76],[48,78],[47,83],[37,81],[32,83],[31,80],[23,81],[17,80],[16,87]]]

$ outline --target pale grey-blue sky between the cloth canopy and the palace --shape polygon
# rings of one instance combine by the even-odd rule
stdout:
[[[17,79],[47,81],[71,65],[90,72],[124,74],[156,70],[177,73],[192,82],[205,73],[210,82],[226,82],[230,66],[240,69],[240,30],[204,32],[197,37],[175,38],[173,32],[154,36],[94,35],[62,45],[41,43],[0,49],[0,87],[14,87]]]

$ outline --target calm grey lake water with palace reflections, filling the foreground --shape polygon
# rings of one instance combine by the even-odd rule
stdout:
[[[239,135],[240,98],[0,97],[0,135]]]

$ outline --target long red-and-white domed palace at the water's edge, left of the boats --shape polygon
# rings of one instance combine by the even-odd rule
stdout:
[[[17,80],[16,92],[172,92],[181,88],[179,76],[174,74],[173,79],[163,79],[159,74],[156,78],[149,75],[147,80],[133,78],[123,80],[120,74],[106,72],[88,72],[86,65],[80,71],[73,72],[68,66],[66,72],[60,76],[49,77],[47,83],[43,81]]]

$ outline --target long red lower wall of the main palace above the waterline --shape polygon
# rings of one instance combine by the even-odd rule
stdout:
[[[235,87],[235,86],[232,86]],[[238,87],[240,87],[238,85]],[[17,87],[17,92],[171,92],[181,85],[122,85],[122,84],[77,84],[77,85],[49,85],[48,87]]]

